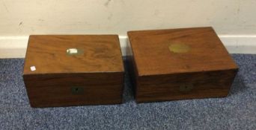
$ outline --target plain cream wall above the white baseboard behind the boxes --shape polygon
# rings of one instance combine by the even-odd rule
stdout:
[[[0,43],[5,44],[21,44],[13,36],[30,34],[126,36],[127,30],[199,26],[213,26],[219,36],[255,39],[256,1],[0,0]]]

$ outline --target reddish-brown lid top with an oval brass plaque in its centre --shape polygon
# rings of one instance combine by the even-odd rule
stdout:
[[[138,76],[237,69],[212,27],[129,31]]]

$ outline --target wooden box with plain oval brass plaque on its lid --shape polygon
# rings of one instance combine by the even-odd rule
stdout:
[[[238,67],[212,27],[129,31],[138,103],[226,97]]]

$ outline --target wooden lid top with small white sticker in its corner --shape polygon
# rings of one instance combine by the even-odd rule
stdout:
[[[29,37],[23,74],[123,72],[117,35]]]

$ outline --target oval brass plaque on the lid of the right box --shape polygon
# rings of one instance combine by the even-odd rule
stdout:
[[[177,44],[177,43],[169,45],[169,51],[173,53],[186,53],[189,50],[190,50],[189,45]]]

